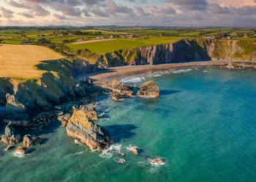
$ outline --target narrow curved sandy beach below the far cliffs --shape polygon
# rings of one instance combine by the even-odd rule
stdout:
[[[78,76],[78,80],[82,80],[85,77],[89,77],[95,81],[108,82],[113,78],[124,78],[127,76],[134,76],[137,74],[149,74],[155,71],[165,71],[172,68],[189,68],[194,66],[227,66],[227,61],[200,61],[200,62],[189,62],[189,63],[170,63],[160,65],[143,65],[143,66],[122,66],[107,68],[104,71],[99,71],[93,74],[85,74]]]

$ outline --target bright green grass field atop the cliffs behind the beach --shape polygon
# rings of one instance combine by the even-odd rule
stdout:
[[[146,47],[157,44],[169,44],[181,40],[181,37],[152,36],[148,39],[114,39],[113,41],[100,41],[89,44],[67,44],[73,50],[90,50],[91,52],[104,55],[116,50],[127,50],[137,47]]]

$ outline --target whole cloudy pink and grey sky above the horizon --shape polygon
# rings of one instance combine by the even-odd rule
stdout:
[[[0,0],[0,25],[256,27],[256,0]]]

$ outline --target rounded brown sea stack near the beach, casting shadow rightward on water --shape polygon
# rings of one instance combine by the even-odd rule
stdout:
[[[145,82],[140,85],[137,95],[143,98],[158,98],[160,95],[159,87],[153,81]]]

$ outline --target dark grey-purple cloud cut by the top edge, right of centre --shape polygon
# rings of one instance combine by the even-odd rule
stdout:
[[[168,0],[169,2],[176,4],[183,9],[188,9],[190,11],[203,11],[208,7],[208,2],[206,0]]]

